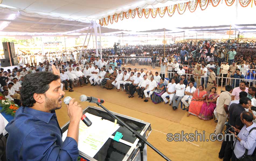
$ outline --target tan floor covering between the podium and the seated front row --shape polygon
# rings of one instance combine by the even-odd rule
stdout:
[[[209,134],[214,132],[217,123],[214,120],[200,120],[198,117],[190,115],[188,112],[181,110],[180,106],[173,111],[171,106],[164,103],[154,104],[151,100],[145,103],[141,98],[128,98],[124,91],[116,92],[116,89],[107,90],[99,86],[75,87],[74,92],[65,92],[65,96],[71,96],[79,101],[79,96],[94,96],[105,100],[104,106],[110,111],[127,115],[133,118],[144,120],[151,123],[152,133],[148,137],[148,141],[163,152],[171,160],[214,160],[219,161],[218,153],[221,147],[219,141],[200,142],[200,141],[167,141],[168,133],[198,133],[205,131],[205,138],[209,138]],[[79,101],[80,102],[80,101]],[[82,107],[97,106],[96,104],[83,102]],[[56,110],[57,118],[60,126],[68,122],[67,108],[63,103],[61,109]],[[198,138],[199,139],[199,138]],[[147,159],[149,161],[164,160],[152,149],[147,148]]]

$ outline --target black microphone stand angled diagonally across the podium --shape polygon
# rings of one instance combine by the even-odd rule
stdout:
[[[133,130],[130,126],[128,126],[126,123],[124,123],[121,119],[119,119],[116,115],[114,115],[112,112],[110,112],[108,109],[106,109],[101,103],[96,102],[96,104],[103,108],[106,112],[108,112],[109,115],[111,115],[113,118],[118,120],[123,126],[125,126],[128,130],[130,130],[135,136],[139,139],[139,149],[140,149],[140,159],[143,161],[143,149],[145,144],[147,144],[151,149],[153,149],[155,152],[157,152],[162,158],[164,158],[167,161],[171,161],[167,156],[165,156],[162,152],[160,152],[157,148],[155,148],[153,145],[151,145],[146,138],[141,136],[137,131]]]

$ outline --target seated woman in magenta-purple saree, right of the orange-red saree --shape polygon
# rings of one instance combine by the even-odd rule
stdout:
[[[216,101],[219,94],[216,93],[216,87],[207,92],[206,100],[202,105],[201,111],[198,115],[199,119],[210,120],[213,118],[213,111],[216,108]]]

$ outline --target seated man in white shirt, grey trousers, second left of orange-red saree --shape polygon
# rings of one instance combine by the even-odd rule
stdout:
[[[177,106],[179,105],[179,103],[181,102],[181,99],[184,96],[185,89],[186,89],[186,86],[183,84],[183,80],[181,79],[179,81],[179,83],[175,86],[176,93],[172,97],[172,109],[173,110],[177,109]],[[177,102],[176,102],[176,99],[177,99]]]

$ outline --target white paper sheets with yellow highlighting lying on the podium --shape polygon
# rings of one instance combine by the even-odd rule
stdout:
[[[80,120],[78,150],[93,158],[120,126],[109,120],[101,120],[101,117],[88,112],[85,115],[91,120],[92,125],[88,127]],[[67,137],[67,131],[63,133],[62,141]]]

